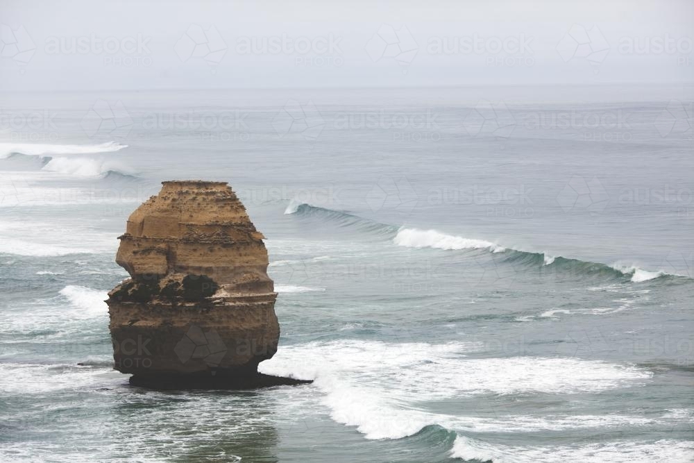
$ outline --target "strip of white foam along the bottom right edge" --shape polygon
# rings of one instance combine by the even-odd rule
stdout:
[[[575,446],[502,446],[458,436],[451,456],[462,460],[507,462],[691,462],[694,442],[662,439],[652,442],[611,441]]]

